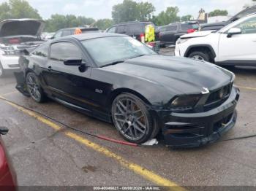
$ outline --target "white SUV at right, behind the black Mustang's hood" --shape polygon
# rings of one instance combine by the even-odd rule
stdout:
[[[175,55],[219,65],[256,66],[256,14],[242,17],[219,31],[181,36]]]

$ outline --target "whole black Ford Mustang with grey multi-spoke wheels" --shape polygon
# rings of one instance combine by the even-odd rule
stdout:
[[[113,122],[127,141],[161,133],[166,144],[197,147],[233,128],[234,74],[210,63],[157,55],[121,34],[81,34],[20,57],[17,88]]]

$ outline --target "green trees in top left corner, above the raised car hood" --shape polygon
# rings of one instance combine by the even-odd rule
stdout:
[[[37,18],[41,19],[37,9],[34,9],[25,0],[9,0],[0,4],[0,20],[10,18]]]

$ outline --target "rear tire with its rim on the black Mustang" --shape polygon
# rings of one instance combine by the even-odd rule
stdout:
[[[26,75],[26,86],[31,98],[33,98],[34,101],[37,103],[42,103],[46,100],[46,95],[39,84],[39,79],[33,72],[29,72]]]

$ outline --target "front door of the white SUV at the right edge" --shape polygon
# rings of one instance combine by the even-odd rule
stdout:
[[[219,38],[219,62],[256,65],[256,17],[233,26],[240,28],[241,34],[227,36],[227,31]]]

